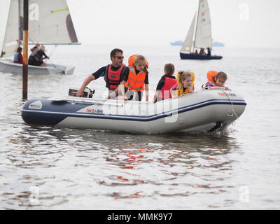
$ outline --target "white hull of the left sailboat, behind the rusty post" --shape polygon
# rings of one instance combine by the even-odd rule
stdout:
[[[29,74],[73,74],[75,67],[60,64],[48,64],[44,67],[28,65]],[[22,64],[13,63],[7,59],[0,59],[0,72],[22,73]]]

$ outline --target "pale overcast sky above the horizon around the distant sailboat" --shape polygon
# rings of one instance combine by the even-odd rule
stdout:
[[[183,40],[197,0],[67,0],[82,43],[166,45]],[[214,41],[280,48],[279,0],[209,0]]]

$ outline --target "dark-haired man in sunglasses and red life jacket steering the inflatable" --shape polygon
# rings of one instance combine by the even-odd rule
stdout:
[[[109,94],[106,99],[116,99],[118,96],[118,85],[123,78],[128,75],[129,69],[128,67],[123,64],[123,50],[115,48],[110,53],[111,57],[111,64],[101,67],[94,73],[87,76],[83,81],[83,84],[80,86],[80,89],[76,93],[76,97],[82,97],[83,91],[85,87],[92,81],[100,76],[104,76],[104,80],[106,81],[106,87],[109,90]]]

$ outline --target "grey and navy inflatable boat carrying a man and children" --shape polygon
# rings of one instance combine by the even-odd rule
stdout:
[[[246,102],[239,94],[209,87],[155,104],[71,96],[30,99],[21,112],[29,125],[157,134],[214,132],[237,120],[245,107]]]

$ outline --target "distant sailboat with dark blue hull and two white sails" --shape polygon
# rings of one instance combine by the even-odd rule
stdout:
[[[181,59],[221,59],[222,56],[200,54],[197,50],[212,49],[211,18],[207,0],[200,0],[197,15],[188,30],[180,50]]]

